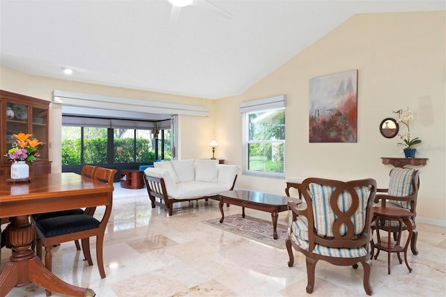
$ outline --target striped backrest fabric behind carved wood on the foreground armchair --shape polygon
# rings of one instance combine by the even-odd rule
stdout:
[[[314,227],[317,234],[324,237],[333,237],[333,223],[337,220],[337,215],[330,207],[330,196],[334,192],[334,188],[327,185],[318,185],[316,183],[310,183],[309,189],[312,194],[312,206],[314,215]],[[351,217],[353,222],[354,234],[361,234],[364,229],[365,215],[367,207],[367,199],[369,197],[369,187],[362,186],[356,187],[355,192],[359,197],[359,206],[355,214]],[[351,207],[352,198],[350,193],[344,191],[339,195],[337,206],[342,213],[346,213],[348,208]],[[347,233],[346,224],[341,225],[340,234],[345,235]]]

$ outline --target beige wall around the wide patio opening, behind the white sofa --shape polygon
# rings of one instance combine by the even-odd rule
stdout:
[[[54,90],[90,93],[102,96],[114,96],[120,98],[133,98],[150,101],[177,103],[182,105],[195,105],[201,107],[213,106],[213,101],[203,98],[176,96],[171,94],[137,91],[131,89],[115,88],[98,84],[84,84],[63,79],[51,79],[26,75],[16,70],[1,66],[0,89],[21,93],[27,96],[52,100]],[[49,110],[49,160],[52,161],[52,172],[61,172],[61,106],[51,104]],[[210,158],[209,146],[213,137],[209,117],[180,116],[180,151],[181,158]],[[191,139],[194,141],[191,142]],[[203,150],[203,151],[201,151]]]

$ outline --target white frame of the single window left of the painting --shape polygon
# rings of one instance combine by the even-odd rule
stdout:
[[[250,109],[248,112],[243,112],[243,174],[252,175],[252,176],[263,176],[268,178],[285,178],[285,141],[286,139],[275,139],[275,140],[249,140],[249,114],[258,113],[258,112],[272,112],[277,110],[285,111],[285,107],[282,108],[272,108],[272,109]],[[248,146],[249,144],[283,144],[284,145],[284,172],[261,172],[257,170],[249,170],[248,162],[249,162],[249,152]]]

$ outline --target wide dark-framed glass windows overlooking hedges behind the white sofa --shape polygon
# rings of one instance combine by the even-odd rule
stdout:
[[[62,116],[62,172],[84,164],[137,168],[172,158],[171,119],[135,121]]]

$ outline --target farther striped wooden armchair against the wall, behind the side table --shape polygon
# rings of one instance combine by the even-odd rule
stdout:
[[[420,171],[413,168],[394,167],[390,170],[389,175],[389,188],[377,190],[378,194],[375,197],[375,203],[380,203],[380,206],[383,207],[403,208],[413,213],[413,217],[410,218],[413,227],[410,250],[412,250],[413,254],[418,254],[418,230],[415,218],[417,216],[418,190],[420,189]],[[387,231],[389,221],[390,231],[396,241],[399,233],[399,220],[381,220],[374,222],[371,225],[371,229],[375,230],[376,224],[378,224],[378,229]],[[407,226],[403,224],[403,230],[406,229]]]

